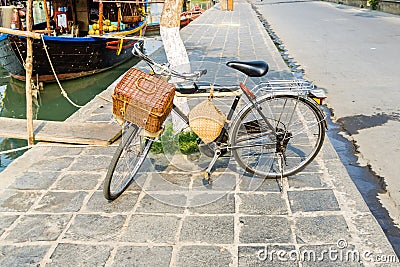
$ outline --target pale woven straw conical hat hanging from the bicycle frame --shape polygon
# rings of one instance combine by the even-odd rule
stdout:
[[[226,121],[225,115],[212,102],[212,95],[189,113],[189,126],[205,144],[214,141]]]

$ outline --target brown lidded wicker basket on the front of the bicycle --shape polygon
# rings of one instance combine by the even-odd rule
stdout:
[[[172,110],[174,94],[173,84],[131,68],[114,89],[113,113],[155,133]]]

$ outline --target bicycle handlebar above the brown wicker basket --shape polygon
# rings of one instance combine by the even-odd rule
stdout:
[[[140,45],[140,42],[137,42],[133,45],[132,53],[135,56],[139,57],[140,59],[144,60],[153,69],[154,72],[155,72],[155,70],[153,67],[157,67],[158,69],[160,69],[160,72],[158,74],[174,76],[174,77],[181,78],[184,80],[196,81],[201,76],[203,76],[207,73],[207,70],[200,70],[200,71],[195,71],[195,72],[191,72],[191,73],[181,73],[176,70],[173,70],[170,67],[168,67],[166,64],[159,64],[159,63],[153,61],[151,58],[149,58],[146,54],[142,53],[139,45]]]

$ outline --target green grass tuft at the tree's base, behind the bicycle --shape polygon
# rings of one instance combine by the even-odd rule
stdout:
[[[175,134],[172,123],[168,123],[158,142],[153,143],[150,151],[153,154],[174,154],[180,150],[184,155],[193,154],[199,152],[197,139],[197,135],[192,131],[183,131]]]

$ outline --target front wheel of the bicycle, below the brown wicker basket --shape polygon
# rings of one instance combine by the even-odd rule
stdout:
[[[129,187],[150,151],[153,139],[141,136],[141,131],[130,124],[123,133],[104,180],[103,194],[108,200],[118,198]]]

